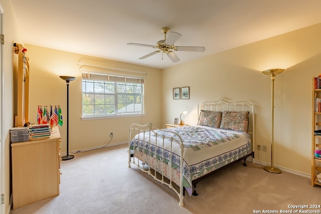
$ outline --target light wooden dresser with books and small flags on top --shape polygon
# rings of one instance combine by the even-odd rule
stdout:
[[[59,195],[60,133],[51,137],[12,143],[13,208]]]

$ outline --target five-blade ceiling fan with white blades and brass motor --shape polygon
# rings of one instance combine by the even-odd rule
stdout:
[[[204,52],[205,47],[197,47],[197,46],[175,46],[174,43],[180,39],[182,36],[179,33],[176,32],[169,32],[169,28],[162,28],[162,32],[165,36],[164,40],[159,40],[156,45],[145,45],[145,44],[138,44],[138,43],[127,43],[127,45],[136,45],[136,46],[143,46],[143,47],[150,47],[150,48],[156,48],[159,49],[158,51],[151,52],[150,54],[147,54],[145,56],[142,56],[138,59],[146,59],[147,57],[150,57],[154,54],[157,54],[159,52],[167,54],[167,56],[174,62],[180,61],[180,58],[176,56],[176,54],[173,51],[193,51],[193,52]],[[166,38],[167,33],[169,32],[168,37]],[[162,58],[163,59],[163,58]]]

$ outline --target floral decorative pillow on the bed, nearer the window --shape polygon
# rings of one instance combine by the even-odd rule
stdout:
[[[222,120],[221,111],[201,110],[198,125],[219,128]]]

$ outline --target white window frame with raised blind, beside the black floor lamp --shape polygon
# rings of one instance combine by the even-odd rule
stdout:
[[[94,92],[87,92],[86,89],[84,91],[84,83],[86,82],[98,82],[100,84],[114,84],[114,92],[106,93],[95,93]],[[144,78],[142,77],[132,77],[132,76],[122,76],[122,75],[114,75],[114,74],[101,74],[101,73],[94,73],[94,72],[82,72],[82,120],[91,120],[91,119],[104,119],[104,118],[114,118],[114,117],[132,117],[132,116],[142,116],[144,115]],[[141,86],[141,93],[120,93],[117,92],[116,86],[117,84],[121,85],[131,85],[131,84],[139,84]],[[85,84],[86,85],[86,84]],[[112,114],[98,114],[98,115],[84,115],[84,93],[85,94],[100,94],[100,95],[111,95],[114,96],[114,103],[111,104],[114,106],[114,113]],[[140,103],[141,103],[141,111],[129,111],[125,110],[125,112],[118,112],[118,102],[117,96],[118,95],[130,95],[130,96],[140,96]],[[133,103],[135,104],[135,103]],[[93,104],[95,105],[95,103]],[[103,104],[103,105],[106,105]],[[125,107],[127,107],[126,105]],[[133,106],[135,108],[135,105]]]

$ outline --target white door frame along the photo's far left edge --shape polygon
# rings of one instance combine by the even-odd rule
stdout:
[[[0,35],[4,34],[4,8],[0,4]],[[1,40],[1,38],[0,38]],[[4,45],[0,41],[0,193],[5,192],[5,141],[4,133]],[[5,213],[5,204],[0,201],[0,214]]]

